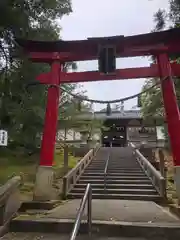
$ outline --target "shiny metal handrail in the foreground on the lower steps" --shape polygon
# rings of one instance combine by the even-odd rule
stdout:
[[[86,202],[87,202],[87,216],[88,216],[88,219],[87,219],[88,234],[91,235],[91,232],[92,232],[92,188],[91,188],[90,183],[87,185],[84,196],[81,200],[81,204],[78,209],[76,221],[74,223],[74,227],[73,227],[73,231],[71,233],[70,240],[76,239],[77,233],[79,231],[80,223],[81,223],[81,218],[84,213]]]

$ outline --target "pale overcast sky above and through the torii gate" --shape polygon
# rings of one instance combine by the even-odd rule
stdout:
[[[150,32],[153,15],[159,8],[168,8],[169,0],[72,0],[73,13],[60,20],[64,40],[86,39]],[[126,58],[117,61],[118,68],[148,66],[147,58]],[[97,70],[97,62],[78,63],[78,71]],[[144,80],[119,80],[84,83],[89,98],[113,100],[141,91]],[[137,100],[125,103],[131,109]],[[104,105],[96,105],[96,110]]]

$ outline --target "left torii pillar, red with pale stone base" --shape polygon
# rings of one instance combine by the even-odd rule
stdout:
[[[53,161],[60,97],[60,74],[61,64],[59,62],[53,62],[51,64],[51,72],[46,75],[48,78],[45,78],[45,83],[49,84],[50,87],[48,89],[47,96],[40,164],[36,173],[36,183],[34,189],[34,200],[39,201],[54,199],[54,191],[52,188],[54,178]]]

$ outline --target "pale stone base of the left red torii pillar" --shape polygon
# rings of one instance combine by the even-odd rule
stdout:
[[[36,183],[33,200],[55,200],[55,191],[52,188],[54,171],[52,166],[39,166],[36,173]]]

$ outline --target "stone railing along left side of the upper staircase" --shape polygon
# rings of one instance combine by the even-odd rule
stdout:
[[[95,148],[91,149],[79,162],[78,164],[63,177],[63,198],[67,197],[67,194],[71,191],[73,186],[76,184],[85,168],[89,165],[91,160],[99,150],[100,145],[96,145]]]

